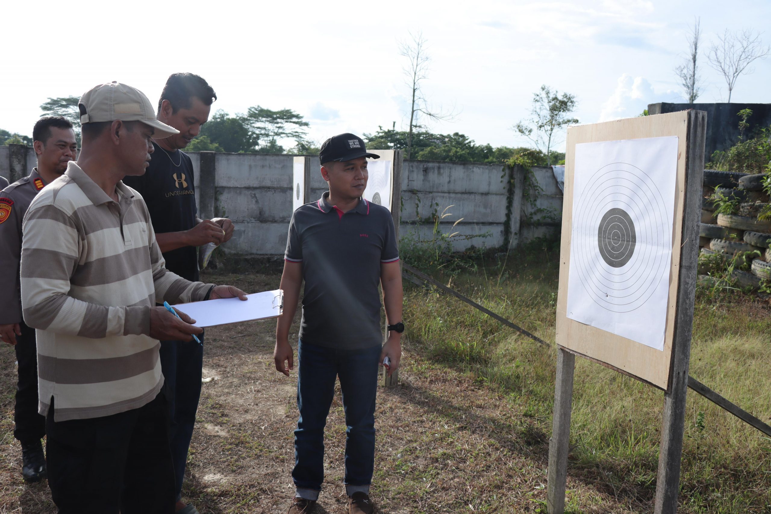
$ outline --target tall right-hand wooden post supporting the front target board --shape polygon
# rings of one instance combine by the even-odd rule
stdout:
[[[688,368],[691,357],[693,304],[696,267],[699,260],[699,217],[702,203],[704,143],[707,113],[689,111],[688,155],[685,156],[685,205],[682,223],[679,287],[675,314],[675,338],[669,390],[664,395],[662,442],[658,452],[655,514],[677,512],[680,489],[682,438],[685,432],[685,397],[688,394]]]

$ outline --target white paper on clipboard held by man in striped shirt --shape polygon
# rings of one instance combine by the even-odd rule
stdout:
[[[200,328],[264,320],[278,317],[284,311],[284,291],[281,289],[247,294],[247,298],[246,301],[238,298],[194,301],[172,307],[192,317],[196,321],[194,325]]]

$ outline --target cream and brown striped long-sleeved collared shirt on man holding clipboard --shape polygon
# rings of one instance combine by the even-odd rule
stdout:
[[[54,421],[139,408],[163,386],[150,308],[200,301],[211,284],[164,267],[139,193],[119,182],[119,203],[70,162],[27,210],[22,313],[37,329],[39,412]]]

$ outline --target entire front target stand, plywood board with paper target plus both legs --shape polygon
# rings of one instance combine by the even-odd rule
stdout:
[[[550,514],[564,512],[575,355],[665,391],[654,512],[677,511],[706,117],[567,129]]]

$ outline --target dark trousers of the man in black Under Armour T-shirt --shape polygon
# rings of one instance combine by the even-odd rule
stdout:
[[[204,334],[198,336],[204,342]],[[177,501],[182,495],[182,481],[187,464],[187,450],[193,437],[195,414],[200,399],[204,347],[195,341],[160,341],[160,368],[163,393],[169,402],[169,446],[177,484]]]

